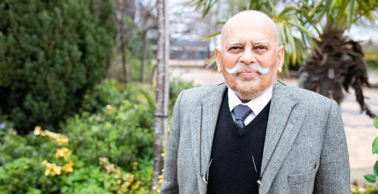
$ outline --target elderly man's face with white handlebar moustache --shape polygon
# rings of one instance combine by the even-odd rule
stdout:
[[[222,48],[215,49],[215,56],[218,72],[228,86],[242,101],[249,101],[273,84],[281,72],[284,47],[277,48],[275,33],[265,18],[246,16],[229,21],[222,34]],[[262,68],[248,68],[250,64]]]

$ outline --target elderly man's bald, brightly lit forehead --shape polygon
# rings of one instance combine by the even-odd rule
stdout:
[[[233,18],[222,32],[222,42],[267,42],[275,41],[272,25],[265,18]]]

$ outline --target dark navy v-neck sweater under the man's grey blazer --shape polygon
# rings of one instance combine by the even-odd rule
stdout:
[[[244,127],[245,133],[239,136],[228,106],[226,90],[211,149],[210,158],[213,161],[208,175],[208,193],[259,193],[256,181],[261,171],[269,108],[270,101]]]

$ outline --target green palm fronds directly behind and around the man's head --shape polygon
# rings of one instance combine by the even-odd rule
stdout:
[[[202,8],[203,17],[209,13],[216,3],[223,4],[218,0],[190,1],[190,4],[195,5],[197,10]],[[302,13],[297,5],[287,6],[278,13],[272,1],[231,0],[228,17],[233,16],[235,11],[243,10],[259,10],[267,14],[276,23],[280,44],[286,47],[283,67],[285,72],[288,72],[290,63],[295,64],[296,61],[300,63],[301,59],[309,54],[307,49],[309,44],[316,45],[315,40],[320,40],[316,33],[310,32],[307,27],[303,26],[302,20],[300,20]],[[218,24],[224,23],[224,21],[218,22]],[[293,31],[298,31],[302,37],[293,36]],[[220,32],[216,32],[204,38],[211,38],[219,34]],[[209,63],[214,64],[215,59],[209,60]]]

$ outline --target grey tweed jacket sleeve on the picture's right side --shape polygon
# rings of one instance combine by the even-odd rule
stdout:
[[[339,106],[331,102],[314,193],[350,193],[348,148]]]

